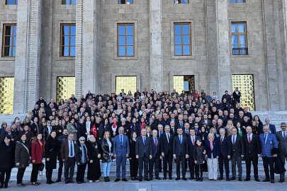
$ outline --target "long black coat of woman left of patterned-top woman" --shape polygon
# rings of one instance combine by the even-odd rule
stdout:
[[[93,163],[88,164],[88,180],[99,180],[101,177],[101,167],[100,159],[98,154],[101,154],[101,144],[96,143],[96,146],[93,146],[89,141],[86,143],[86,148],[88,149],[89,160],[93,160]]]

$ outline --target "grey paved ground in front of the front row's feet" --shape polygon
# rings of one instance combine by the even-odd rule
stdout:
[[[222,181],[210,181],[207,178],[203,178],[203,182],[196,182],[194,180],[152,180],[152,181],[142,181],[142,183],[137,180],[129,180],[127,183],[120,181],[114,183],[113,180],[110,183],[103,182],[103,178],[100,179],[99,183],[86,183],[86,184],[68,184],[65,185],[64,182],[55,183],[52,185],[46,185],[44,180],[40,180],[41,185],[31,186],[29,181],[23,181],[24,183],[29,183],[27,187],[18,188],[16,187],[16,181],[11,181],[9,187],[6,190],[99,190],[99,191],[137,191],[139,188],[146,188],[147,191],[162,191],[162,190],[287,190],[287,182],[278,183],[278,179],[275,180],[275,184],[271,183],[257,183],[254,180],[249,182],[238,182],[226,180]]]

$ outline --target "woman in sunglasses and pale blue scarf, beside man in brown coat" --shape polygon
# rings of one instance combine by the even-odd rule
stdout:
[[[84,181],[84,175],[85,175],[85,170],[86,170],[86,164],[89,162],[89,157],[88,157],[88,149],[86,149],[86,144],[85,144],[85,137],[80,137],[79,138],[79,144],[76,146],[76,151],[75,151],[75,158],[76,158],[76,163],[77,163],[77,184],[81,183],[86,183]]]

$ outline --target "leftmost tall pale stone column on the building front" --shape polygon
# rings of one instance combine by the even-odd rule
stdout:
[[[28,0],[18,1],[13,113],[26,112],[29,6]]]

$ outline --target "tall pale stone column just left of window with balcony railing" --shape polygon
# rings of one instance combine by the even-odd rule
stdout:
[[[230,72],[230,23],[228,21],[228,0],[217,1],[218,28],[218,96],[227,90],[232,92],[232,74]]]

